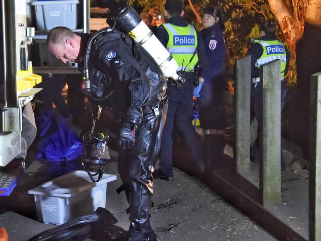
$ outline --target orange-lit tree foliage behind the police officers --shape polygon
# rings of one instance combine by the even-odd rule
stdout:
[[[275,19],[268,0],[191,0],[191,2],[199,14],[201,14],[204,7],[208,4],[218,4],[221,7],[226,19],[225,40],[228,46],[231,64],[234,64],[236,60],[245,56],[248,53],[251,41],[259,37],[258,24],[267,19]],[[133,3],[140,4],[145,11],[148,11],[150,8],[157,8],[163,12],[165,0],[128,0],[128,4]],[[291,1],[287,1],[286,3],[290,5]],[[190,23],[193,23],[198,30],[201,30],[202,26],[196,21],[195,14],[187,0],[185,0],[184,16]],[[285,43],[280,27],[278,27],[277,36]],[[292,59],[289,75],[291,78],[291,80],[289,80],[290,82],[296,81],[296,67],[294,63],[295,61]]]

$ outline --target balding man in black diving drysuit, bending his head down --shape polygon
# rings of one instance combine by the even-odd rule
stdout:
[[[92,43],[89,55],[88,42]],[[152,160],[159,150],[162,111],[167,107],[166,79],[159,66],[140,45],[115,29],[80,37],[68,28],[56,27],[49,32],[47,43],[62,62],[79,62],[81,71],[88,70],[89,79],[96,86],[89,93],[91,98],[99,101],[103,97],[104,104],[124,109],[118,171],[129,202],[130,228],[126,240],[156,241],[149,221]]]

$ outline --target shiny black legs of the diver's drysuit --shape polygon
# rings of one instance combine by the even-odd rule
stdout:
[[[134,146],[127,151],[119,151],[118,171],[129,203],[130,229],[136,232],[151,230],[152,165],[160,150],[159,140],[166,110],[167,99],[160,104],[159,116],[154,116],[151,110],[147,110],[135,131]]]

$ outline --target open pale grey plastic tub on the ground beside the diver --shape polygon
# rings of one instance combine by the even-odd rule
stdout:
[[[116,179],[116,175],[105,173],[99,182],[92,182],[85,171],[77,170],[28,193],[35,195],[38,220],[60,225],[91,214],[98,207],[105,208],[107,183]]]

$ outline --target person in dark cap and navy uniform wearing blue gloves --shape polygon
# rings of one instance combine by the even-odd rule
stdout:
[[[205,140],[206,159],[209,164],[223,158],[225,146],[224,129],[227,120],[223,111],[222,93],[225,87],[226,44],[224,42],[224,21],[218,6],[207,6],[203,10],[201,31],[207,65],[201,72],[204,80],[194,90],[200,97],[200,123]]]

